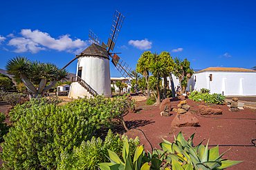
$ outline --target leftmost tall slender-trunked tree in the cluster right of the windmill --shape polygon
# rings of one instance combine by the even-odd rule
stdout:
[[[153,54],[149,51],[143,52],[143,54],[140,56],[140,59],[138,59],[138,63],[136,64],[136,72],[142,74],[147,83],[147,99],[149,99],[150,93],[149,93],[149,65],[152,62]]]

